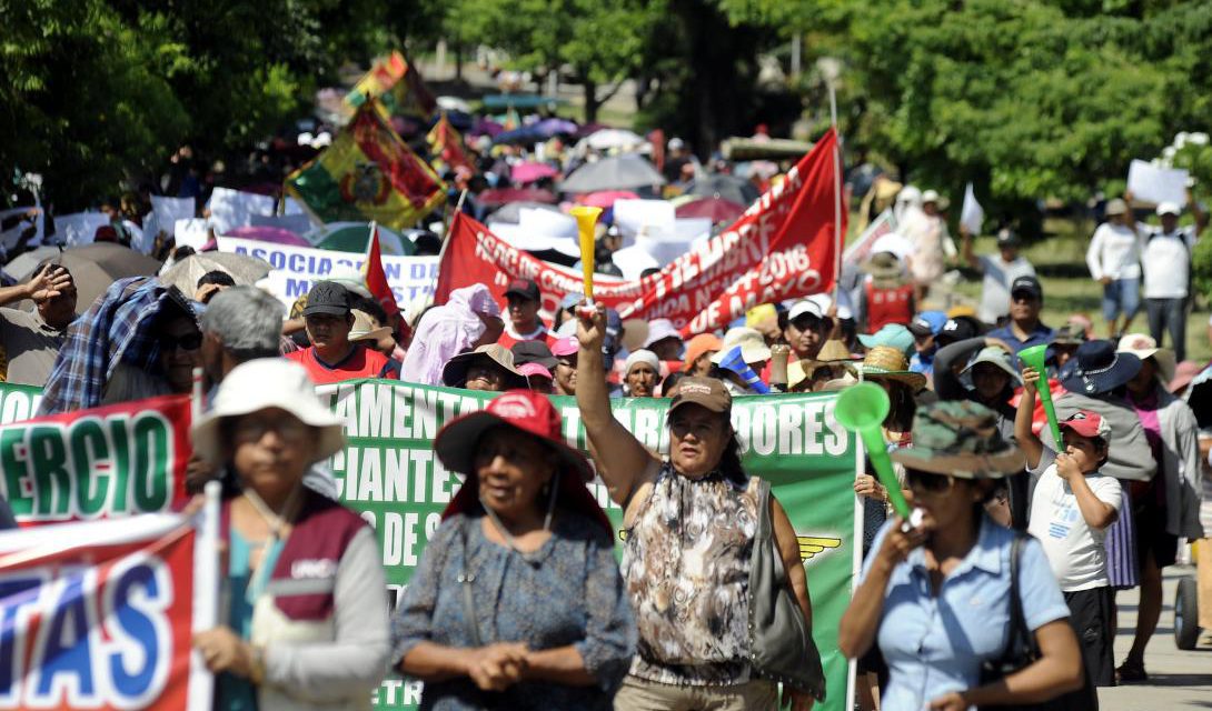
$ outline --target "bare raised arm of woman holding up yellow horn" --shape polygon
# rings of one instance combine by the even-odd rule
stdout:
[[[611,414],[602,359],[605,338],[606,311],[602,308],[599,306],[591,319],[578,316],[577,407],[581,408],[581,422],[593,442],[596,460],[601,463],[599,474],[610,489],[610,497],[627,508],[640,484],[656,477],[659,460]]]

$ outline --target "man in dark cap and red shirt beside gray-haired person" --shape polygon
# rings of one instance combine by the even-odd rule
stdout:
[[[311,345],[286,357],[307,368],[316,385],[355,378],[398,378],[387,356],[349,340],[354,315],[345,287],[333,281],[316,282],[307,296],[303,321]]]

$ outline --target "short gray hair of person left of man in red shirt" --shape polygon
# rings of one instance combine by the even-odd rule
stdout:
[[[235,286],[215,294],[199,326],[223,342],[235,360],[274,357],[282,334],[281,302],[251,286]]]

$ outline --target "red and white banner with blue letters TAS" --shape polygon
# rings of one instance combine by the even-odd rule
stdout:
[[[194,538],[171,515],[0,535],[0,709],[208,707]]]

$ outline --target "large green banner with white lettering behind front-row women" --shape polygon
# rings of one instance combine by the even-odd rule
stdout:
[[[321,386],[345,422],[349,448],[333,458],[344,503],[379,535],[393,603],[408,583],[441,511],[462,476],[446,471],[431,442],[441,426],[484,407],[490,395],[390,380]],[[571,397],[553,397],[570,445],[585,449],[579,411]],[[837,652],[837,623],[850,603],[854,556],[854,438],[833,417],[834,394],[739,397],[732,424],[751,475],[770,480],[795,527],[812,598],[812,627],[828,678],[818,709],[846,707],[847,663]],[[648,448],[667,452],[668,400],[616,400],[614,417]],[[618,526],[622,510],[606,488],[590,484]],[[421,683],[393,677],[376,694],[378,709],[411,709]]]

